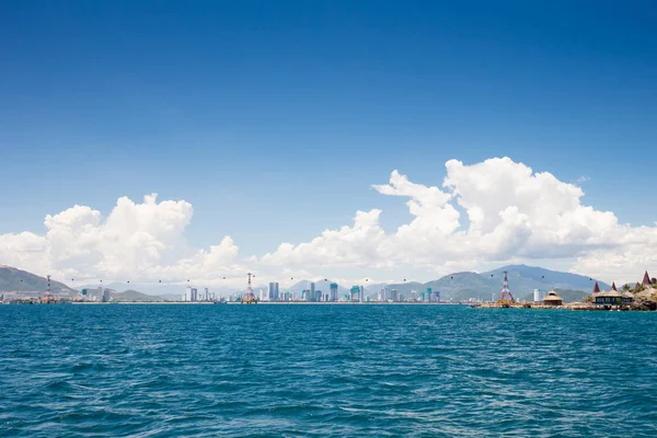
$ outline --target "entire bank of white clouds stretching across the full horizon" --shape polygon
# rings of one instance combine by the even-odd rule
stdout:
[[[583,204],[579,186],[508,158],[472,165],[450,160],[435,186],[393,171],[387,184],[372,187],[405,198],[413,219],[387,232],[383,211],[357,211],[351,224],[240,260],[230,237],[206,249],[187,244],[184,232],[194,211],[185,200],[158,203],[153,194],[137,204],[122,197],[106,218],[76,205],[48,215],[43,235],[0,234],[0,263],[62,277],[155,283],[192,277],[232,287],[242,286],[247,272],[281,280],[349,272],[376,281],[372,270],[390,278],[401,269],[437,275],[546,260],[607,280],[629,281],[653,267],[657,273],[657,226],[619,223],[613,212]]]

